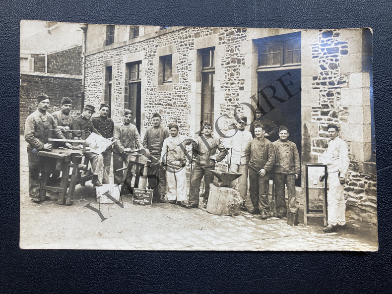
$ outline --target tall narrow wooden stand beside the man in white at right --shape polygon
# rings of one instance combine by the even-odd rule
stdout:
[[[304,205],[304,224],[308,224],[308,217],[323,217],[324,226],[327,226],[327,165],[305,164],[306,167],[306,198]],[[324,181],[320,182],[320,176],[324,175]],[[324,190],[322,197],[323,210],[309,209],[309,191]]]

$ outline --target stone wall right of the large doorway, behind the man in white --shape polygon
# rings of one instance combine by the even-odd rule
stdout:
[[[369,82],[366,83],[363,78],[366,71],[362,70],[362,66],[355,68],[353,65],[353,69],[342,70],[341,65],[345,56],[350,57],[352,52],[361,52],[362,36],[345,39],[341,32],[347,31],[324,30],[319,31],[317,36],[310,36],[314,41],[317,40],[317,43],[309,45],[312,59],[309,60],[309,64],[313,63],[313,66],[310,65],[306,72],[303,70],[303,162],[321,162],[321,155],[327,150],[330,141],[327,137],[327,124],[334,123],[340,126],[339,135],[347,142],[350,157],[344,189],[344,196],[347,199],[346,216],[377,224],[375,162],[365,162],[364,151],[358,150],[358,144],[363,146],[371,140],[370,132],[365,131],[367,125],[363,118],[367,104],[370,104],[370,97],[369,102],[363,104],[342,97],[342,93],[355,95],[357,88],[370,92],[366,85]],[[349,36],[349,33],[346,35]],[[306,60],[303,60],[303,64],[304,61]],[[367,77],[369,79],[369,71]],[[362,99],[362,95],[360,97]],[[363,99],[365,102],[366,99]],[[355,126],[348,127],[355,119],[359,119],[358,123],[363,125],[362,128],[357,130]]]

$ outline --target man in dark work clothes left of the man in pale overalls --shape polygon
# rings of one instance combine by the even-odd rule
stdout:
[[[169,137],[169,131],[161,125],[161,116],[155,113],[152,116],[153,126],[146,130],[143,138],[143,146],[150,151],[151,171],[148,176],[148,184],[153,191],[155,202],[165,203],[166,172],[159,166],[162,153],[163,141]]]

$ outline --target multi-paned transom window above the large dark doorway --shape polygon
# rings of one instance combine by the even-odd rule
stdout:
[[[301,64],[301,33],[255,40],[259,49],[259,68]]]

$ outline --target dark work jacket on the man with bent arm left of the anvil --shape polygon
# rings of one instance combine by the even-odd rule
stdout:
[[[196,140],[196,147],[194,148],[194,154],[196,156],[195,164],[202,168],[214,167],[215,161],[209,159],[209,156],[215,155],[216,150],[219,150],[216,156],[216,162],[220,162],[227,154],[227,150],[223,147],[220,140],[214,136],[208,138],[205,138],[203,135],[199,136]]]

